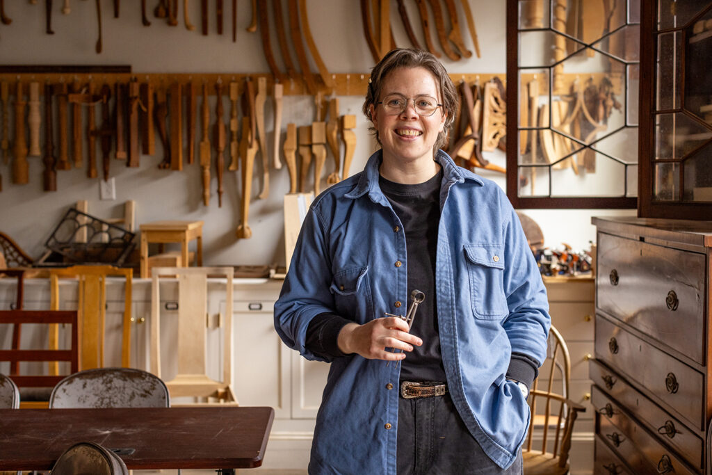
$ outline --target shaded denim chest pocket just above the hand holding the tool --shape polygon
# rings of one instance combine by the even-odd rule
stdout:
[[[329,288],[339,315],[357,323],[373,318],[368,266],[345,268],[334,274]]]

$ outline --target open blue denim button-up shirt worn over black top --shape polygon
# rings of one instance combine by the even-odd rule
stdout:
[[[529,408],[505,374],[512,352],[543,362],[550,326],[540,273],[502,190],[444,152],[436,256],[440,344],[452,400],[473,437],[501,467],[512,464]],[[381,152],[363,172],[328,188],[305,218],[275,328],[308,360],[309,321],[356,323],[402,314],[409,302],[405,234],[379,189]],[[427,335],[421,335],[427,338]],[[318,411],[311,474],[396,474],[400,365],[360,355],[331,361]]]

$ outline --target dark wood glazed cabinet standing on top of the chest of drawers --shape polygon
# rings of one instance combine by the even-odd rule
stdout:
[[[712,1],[644,1],[639,214],[712,220]]]

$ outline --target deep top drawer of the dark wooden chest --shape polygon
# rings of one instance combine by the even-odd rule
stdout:
[[[705,255],[598,234],[597,305],[705,363]]]

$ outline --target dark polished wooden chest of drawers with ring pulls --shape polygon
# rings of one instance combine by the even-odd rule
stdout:
[[[595,474],[702,474],[712,222],[593,218]]]

